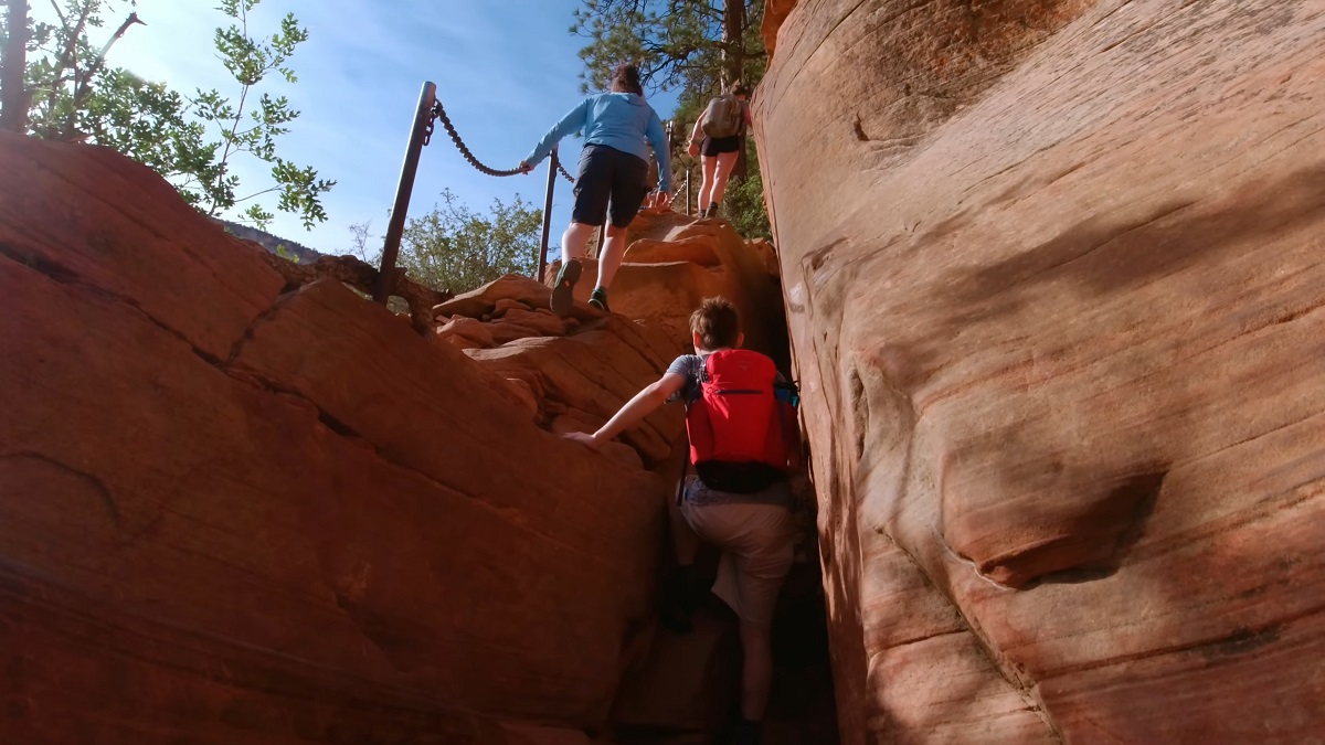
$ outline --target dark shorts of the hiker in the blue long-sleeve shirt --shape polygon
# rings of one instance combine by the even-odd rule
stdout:
[[[612,224],[629,225],[649,191],[644,183],[648,172],[649,164],[637,155],[606,144],[586,144],[575,176],[571,221],[602,225],[611,203]]]

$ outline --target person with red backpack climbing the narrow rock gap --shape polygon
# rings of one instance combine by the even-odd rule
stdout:
[[[598,449],[664,403],[686,402],[688,464],[696,476],[684,483],[673,510],[678,567],[664,587],[662,620],[689,628],[697,602],[694,534],[721,547],[713,593],[739,618],[743,652],[737,742],[755,745],[772,684],[772,611],[795,544],[787,483],[800,457],[795,387],[772,359],[739,349],[739,317],[721,297],[690,315],[690,335],[696,354],[676,358],[592,435],[566,437]]]

